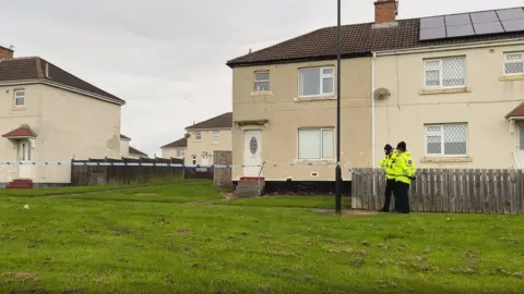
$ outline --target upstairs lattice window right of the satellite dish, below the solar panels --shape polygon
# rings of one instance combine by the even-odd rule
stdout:
[[[426,88],[460,88],[466,86],[466,58],[452,57],[424,61]]]

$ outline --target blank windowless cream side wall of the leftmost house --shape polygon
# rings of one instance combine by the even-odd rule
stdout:
[[[120,106],[41,85],[40,161],[120,158]],[[69,183],[69,167],[39,167],[37,182]]]

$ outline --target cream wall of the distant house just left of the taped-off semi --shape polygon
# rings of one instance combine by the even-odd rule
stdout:
[[[215,150],[230,151],[231,150],[231,130],[201,130],[201,139],[196,140],[195,132],[189,130],[190,137],[188,138],[188,148],[186,150],[184,164],[192,164],[192,156],[196,156],[196,164],[202,163],[202,154],[210,155],[209,162],[213,164],[213,152]],[[218,144],[213,142],[213,132],[219,132]]]

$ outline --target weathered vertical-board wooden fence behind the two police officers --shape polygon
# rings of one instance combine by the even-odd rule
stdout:
[[[381,209],[383,170],[352,171],[352,207]],[[409,206],[424,212],[524,213],[524,175],[521,170],[421,169],[412,181]]]

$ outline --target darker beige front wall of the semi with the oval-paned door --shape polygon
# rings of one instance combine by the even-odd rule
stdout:
[[[342,61],[342,140],[341,156],[344,180],[350,180],[349,168],[368,167],[371,162],[371,59]],[[233,161],[243,163],[246,130],[262,130],[262,160],[266,163],[319,162],[299,161],[298,128],[336,126],[336,100],[299,100],[298,70],[309,66],[336,66],[335,60],[278,65],[236,68],[233,70],[233,115],[236,121],[269,120],[265,126],[234,126]],[[253,95],[255,71],[270,71],[271,93]],[[335,68],[336,73],[336,68]],[[336,76],[336,74],[335,74]],[[335,85],[336,88],[336,85]],[[336,130],[335,130],[336,132]],[[319,167],[267,167],[266,181],[333,181],[335,161]],[[315,172],[317,176],[311,173]],[[243,175],[234,169],[233,179]]]

